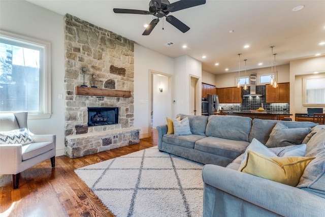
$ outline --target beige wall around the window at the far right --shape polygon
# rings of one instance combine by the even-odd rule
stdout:
[[[290,61],[290,113],[294,116],[295,113],[307,113],[307,107],[302,105],[303,76],[301,75],[312,74],[316,71],[325,73],[325,56]]]

